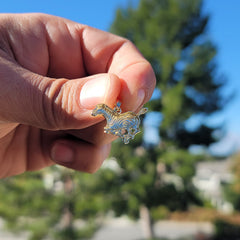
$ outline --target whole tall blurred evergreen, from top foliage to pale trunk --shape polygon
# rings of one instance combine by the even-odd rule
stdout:
[[[201,204],[191,184],[200,158],[188,150],[216,141],[218,128],[205,120],[223,106],[223,79],[217,77],[216,47],[206,35],[208,20],[200,0],[140,0],[137,7],[118,9],[111,26],[150,61],[160,92],[147,105],[162,115],[160,144],[146,145],[138,135],[129,145],[117,141],[112,151],[122,167],[109,190],[112,207],[117,214],[142,216],[148,238],[154,235],[151,213],[156,215],[159,206],[186,210]],[[201,120],[190,128],[188,120],[196,117]]]

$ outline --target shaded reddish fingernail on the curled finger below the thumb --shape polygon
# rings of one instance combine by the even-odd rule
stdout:
[[[57,142],[53,145],[51,150],[51,158],[56,163],[69,163],[73,161],[74,151],[66,143]]]

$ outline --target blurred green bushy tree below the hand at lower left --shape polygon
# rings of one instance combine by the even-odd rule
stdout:
[[[108,209],[96,181],[59,167],[2,179],[0,217],[9,230],[27,230],[30,240],[90,238]]]

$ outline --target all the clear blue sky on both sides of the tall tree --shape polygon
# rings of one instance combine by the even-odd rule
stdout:
[[[108,30],[118,7],[138,0],[8,0],[1,1],[1,13],[43,12],[65,17],[102,30]],[[226,136],[215,147],[224,152],[232,147],[240,150],[240,1],[205,0],[204,10],[211,16],[209,37],[218,47],[219,74],[224,74],[227,87],[223,94],[234,91],[235,98],[210,123],[225,123]]]

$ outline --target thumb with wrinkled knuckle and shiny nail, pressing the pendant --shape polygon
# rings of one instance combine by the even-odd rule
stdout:
[[[43,129],[81,129],[97,123],[100,119],[91,117],[92,109],[98,103],[113,106],[121,89],[113,74],[68,80],[43,77],[11,64],[3,70],[0,122]]]

